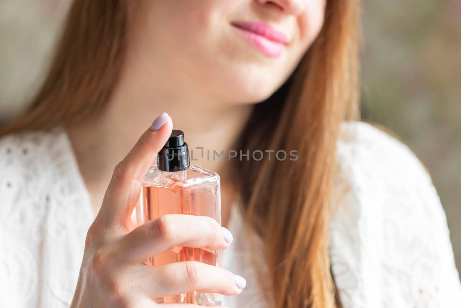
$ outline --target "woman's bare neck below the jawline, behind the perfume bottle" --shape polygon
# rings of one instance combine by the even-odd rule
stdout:
[[[139,27],[141,30],[144,29]],[[85,123],[68,127],[71,143],[95,211],[104,197],[114,166],[135,145],[157,115],[166,111],[173,128],[184,132],[191,164],[221,176],[223,222],[226,199],[233,191],[228,160],[200,157],[200,150],[232,149],[253,109],[252,104],[226,102],[204,83],[173,69],[169,55],[160,54],[156,44],[144,39],[142,31],[130,33],[120,79],[104,112]],[[194,151],[195,150],[195,151]],[[153,157],[154,159],[154,157]]]

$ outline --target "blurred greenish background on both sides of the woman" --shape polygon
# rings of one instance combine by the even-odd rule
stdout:
[[[0,0],[0,123],[36,91],[69,3]],[[364,1],[363,32],[362,118],[426,164],[461,269],[461,1]]]

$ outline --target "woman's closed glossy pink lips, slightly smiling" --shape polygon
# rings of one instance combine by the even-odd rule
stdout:
[[[235,21],[231,23],[238,33],[254,48],[270,57],[279,57],[288,42],[286,36],[264,23]]]

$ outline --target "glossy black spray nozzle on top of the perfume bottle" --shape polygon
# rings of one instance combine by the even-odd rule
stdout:
[[[157,167],[162,171],[182,171],[189,168],[189,149],[184,133],[173,129],[165,146],[159,151]]]

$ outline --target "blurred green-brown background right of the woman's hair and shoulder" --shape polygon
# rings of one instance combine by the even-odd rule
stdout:
[[[361,113],[426,165],[461,270],[461,1],[364,1]]]

